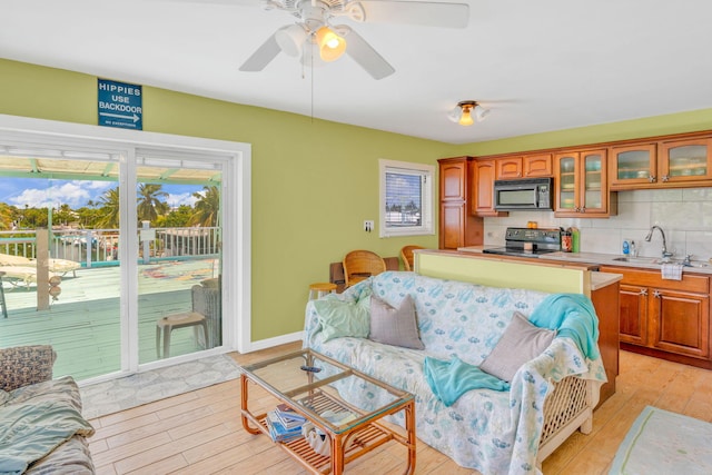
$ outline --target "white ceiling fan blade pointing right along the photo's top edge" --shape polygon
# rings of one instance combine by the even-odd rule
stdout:
[[[363,21],[367,22],[408,23],[441,28],[466,28],[469,22],[469,6],[467,3],[363,0],[357,4],[363,7]],[[357,18],[354,19],[357,20]]]

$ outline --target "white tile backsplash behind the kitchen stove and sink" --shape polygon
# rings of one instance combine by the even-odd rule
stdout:
[[[485,244],[504,245],[505,229],[526,227],[536,221],[540,228],[581,230],[582,253],[622,254],[623,240],[634,240],[640,256],[659,257],[662,237],[645,236],[651,226],[665,231],[668,250],[674,257],[691,254],[693,259],[712,257],[712,188],[619,191],[619,214],[607,219],[555,218],[552,211],[512,211],[506,218],[485,218]]]

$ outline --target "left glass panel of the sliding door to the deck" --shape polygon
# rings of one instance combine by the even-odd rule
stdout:
[[[52,345],[55,376],[121,370],[120,158],[36,144],[0,156],[0,347]]]

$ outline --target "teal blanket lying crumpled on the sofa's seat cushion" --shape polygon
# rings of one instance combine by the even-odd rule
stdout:
[[[468,365],[457,356],[453,356],[449,362],[426,356],[423,372],[433,394],[447,407],[471,389],[510,390],[508,383],[483,372],[477,366]]]

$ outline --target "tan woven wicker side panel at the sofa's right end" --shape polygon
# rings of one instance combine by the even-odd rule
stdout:
[[[597,389],[597,390],[596,390]],[[537,464],[548,457],[576,429],[590,434],[593,408],[599,403],[601,383],[566,376],[554,383],[554,390],[544,403],[544,425],[540,439]]]

